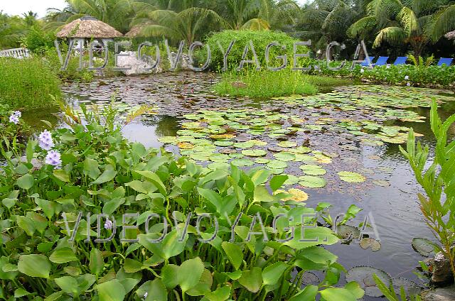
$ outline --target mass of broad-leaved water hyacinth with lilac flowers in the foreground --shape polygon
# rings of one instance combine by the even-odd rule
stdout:
[[[210,171],[128,143],[87,111],[74,117],[86,125],[53,131],[51,151],[37,141],[23,160],[3,151],[0,299],[363,297],[357,283],[338,285],[344,268],[323,248],[338,237],[316,224],[316,210],[273,193],[287,176]],[[302,287],[309,270],[323,280]]]

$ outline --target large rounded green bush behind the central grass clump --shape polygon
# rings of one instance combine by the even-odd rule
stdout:
[[[221,31],[214,33],[208,38],[207,43],[210,45],[210,51],[212,53],[212,61],[210,63],[210,69],[219,71],[223,69],[223,53],[221,52],[218,42],[223,46],[223,51],[226,51],[230,42],[235,40],[235,44],[232,47],[230,54],[228,55],[228,68],[235,69],[240,65],[242,60],[243,51],[245,45],[249,45],[250,40],[252,41],[257,58],[263,69],[267,68],[265,60],[265,48],[269,43],[279,42],[280,45],[286,46],[286,50],[282,50],[279,47],[270,48],[269,58],[271,60],[271,67],[279,67],[282,65],[282,60],[277,59],[277,55],[287,55],[288,66],[293,62],[294,55],[294,42],[297,40],[291,38],[286,33],[276,31]],[[307,53],[309,48],[304,46],[297,47],[297,53]],[[247,60],[252,60],[252,50],[247,55]],[[299,60],[299,62],[303,59]],[[247,64],[251,66],[253,64]],[[245,66],[246,67],[246,66]]]

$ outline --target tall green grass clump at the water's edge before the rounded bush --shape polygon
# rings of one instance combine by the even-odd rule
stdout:
[[[231,96],[252,98],[280,97],[291,94],[313,95],[318,89],[301,72],[290,69],[280,71],[226,72],[215,84],[215,92]]]

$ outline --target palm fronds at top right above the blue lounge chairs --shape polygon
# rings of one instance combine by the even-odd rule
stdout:
[[[368,15],[348,29],[351,37],[375,33],[373,47],[382,43],[410,45],[414,56],[455,26],[455,6],[446,0],[373,0]]]

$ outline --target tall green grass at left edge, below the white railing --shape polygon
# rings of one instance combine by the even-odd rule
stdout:
[[[60,96],[60,80],[41,58],[0,58],[0,104],[11,109],[53,106],[49,95]]]

